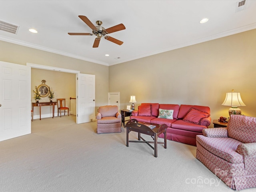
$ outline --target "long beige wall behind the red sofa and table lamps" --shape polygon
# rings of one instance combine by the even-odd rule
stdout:
[[[221,104],[232,89],[246,104],[242,114],[256,116],[256,30],[109,67],[109,91],[120,92],[121,109],[135,95],[135,108],[142,102],[202,105],[218,119],[229,116],[230,107]]]

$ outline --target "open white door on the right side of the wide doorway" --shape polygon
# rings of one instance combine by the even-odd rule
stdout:
[[[95,75],[77,74],[76,123],[90,122],[95,118]]]

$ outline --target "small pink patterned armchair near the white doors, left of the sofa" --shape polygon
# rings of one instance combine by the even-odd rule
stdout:
[[[98,134],[121,132],[121,114],[118,112],[118,106],[101,106],[96,119]]]

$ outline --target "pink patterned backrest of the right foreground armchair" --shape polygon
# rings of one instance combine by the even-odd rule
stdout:
[[[231,115],[228,120],[228,136],[243,143],[256,142],[256,118]]]

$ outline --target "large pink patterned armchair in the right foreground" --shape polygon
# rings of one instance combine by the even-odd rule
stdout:
[[[256,118],[231,115],[227,128],[196,136],[196,158],[234,190],[256,187]]]

